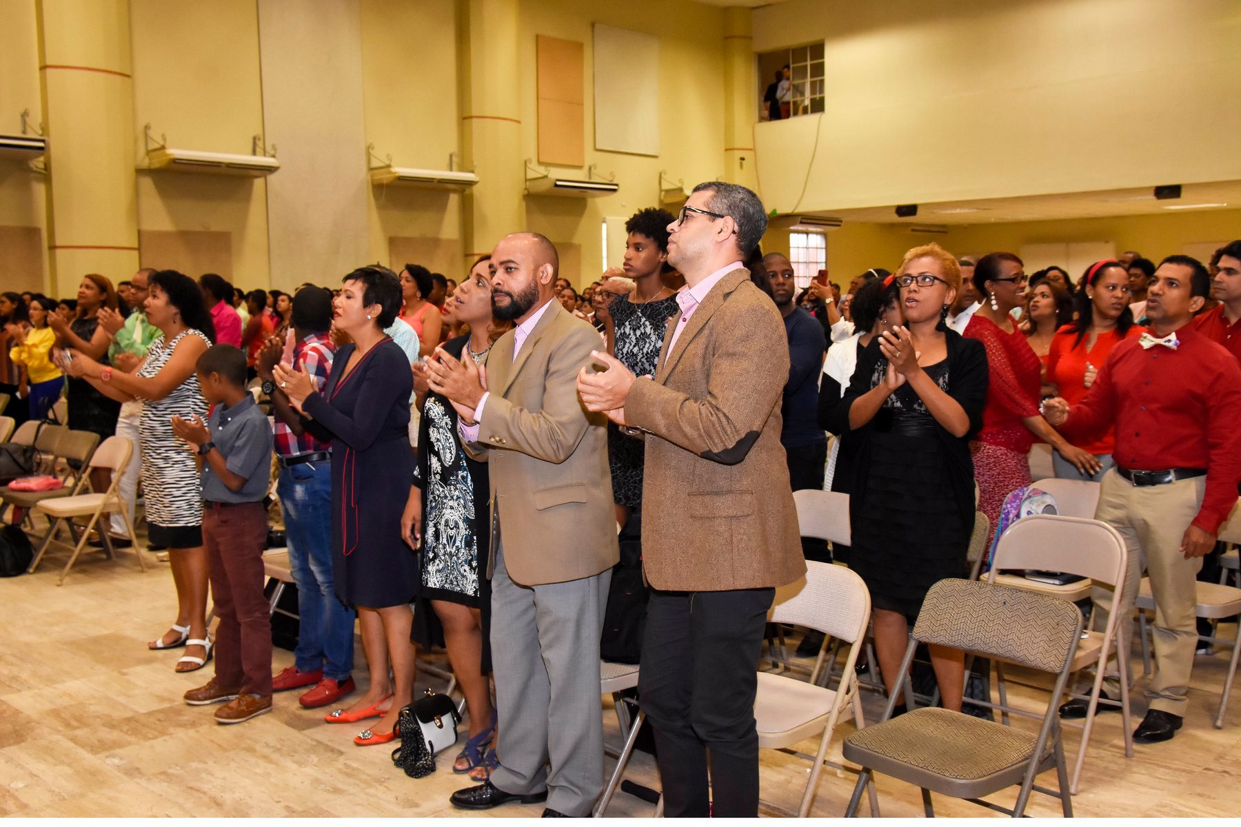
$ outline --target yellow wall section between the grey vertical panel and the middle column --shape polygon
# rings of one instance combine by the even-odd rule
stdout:
[[[462,169],[455,25],[453,0],[361,0],[366,140],[397,166],[447,170],[449,153],[457,153]],[[371,260],[405,264],[392,258],[396,238],[397,249],[434,250],[419,263],[460,280],[460,201],[439,190],[370,187]]]

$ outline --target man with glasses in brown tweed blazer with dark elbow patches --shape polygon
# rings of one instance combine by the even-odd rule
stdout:
[[[645,431],[643,570],[653,588],[642,707],[668,816],[758,815],[756,668],[776,586],[805,573],[781,394],[788,340],[742,265],[767,227],[750,190],[701,184],[668,231],[685,275],[654,377],[606,353],[581,371],[591,410]],[[710,790],[707,751],[710,750]],[[714,792],[714,796],[711,795]]]

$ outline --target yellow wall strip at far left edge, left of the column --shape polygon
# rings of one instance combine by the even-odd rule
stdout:
[[[38,86],[38,32],[35,0],[0,0],[0,134],[21,134],[21,112],[30,110],[31,129],[43,120]],[[47,280],[46,182],[25,160],[0,157],[0,236],[22,238],[20,254],[0,252],[4,289],[45,289]],[[31,228],[38,234],[30,244]],[[16,252],[14,252],[16,253]],[[14,285],[14,286],[9,286]],[[17,286],[20,285],[20,286]]]

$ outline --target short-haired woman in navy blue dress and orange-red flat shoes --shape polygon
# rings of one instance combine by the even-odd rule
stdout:
[[[414,456],[410,446],[410,361],[383,334],[401,309],[401,283],[383,267],[344,279],[333,325],[354,341],[336,351],[320,393],[283,366],[279,382],[315,436],[331,440],[331,538],[336,596],[357,609],[370,688],[329,723],[380,718],[355,744],[395,736],[401,707],[413,701],[414,647],[410,603],[418,593],[418,558],[401,539]],[[392,679],[388,679],[388,665]]]

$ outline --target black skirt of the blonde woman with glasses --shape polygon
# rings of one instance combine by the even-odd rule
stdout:
[[[849,567],[865,580],[875,609],[912,622],[932,585],[969,573],[973,526],[962,520],[942,440],[872,433],[858,487]]]

